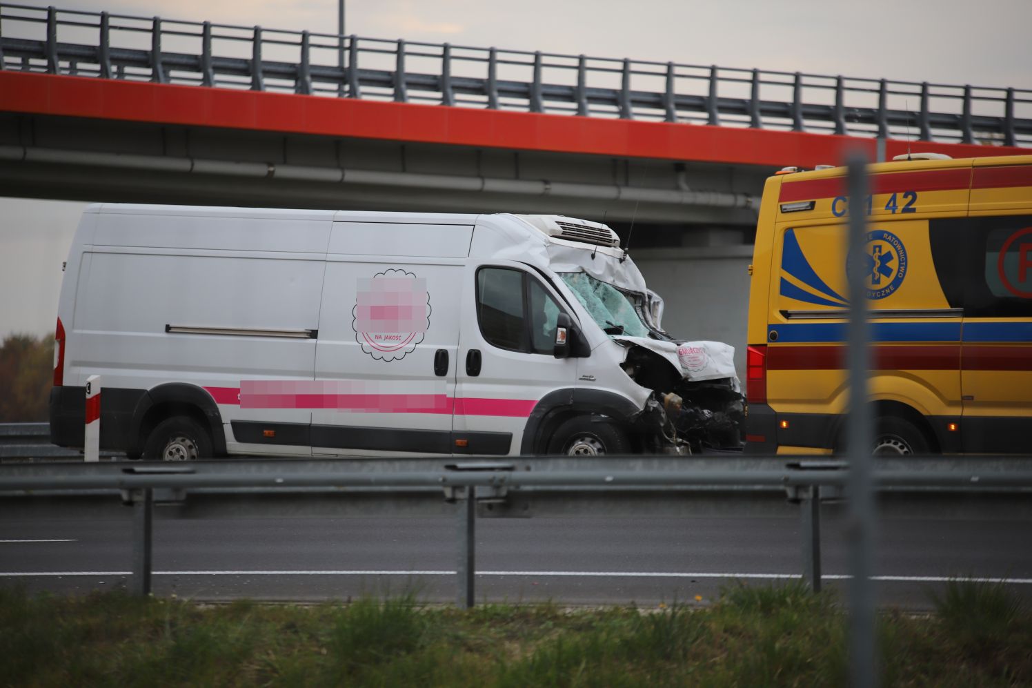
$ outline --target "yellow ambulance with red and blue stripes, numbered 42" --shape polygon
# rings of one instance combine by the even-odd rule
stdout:
[[[1032,452],[1032,155],[869,167],[877,455]],[[847,413],[845,168],[767,181],[750,268],[746,451],[832,454]]]

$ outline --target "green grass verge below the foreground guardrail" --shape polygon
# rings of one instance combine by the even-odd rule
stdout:
[[[938,614],[879,618],[883,685],[1032,684],[1032,616],[1003,586],[954,582]],[[845,617],[800,584],[728,588],[705,608],[488,604],[414,595],[205,606],[0,589],[11,686],[845,685]]]

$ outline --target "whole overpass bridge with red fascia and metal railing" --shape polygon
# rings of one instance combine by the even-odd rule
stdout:
[[[668,330],[742,355],[764,180],[849,147],[1027,153],[1032,91],[0,4],[3,195],[633,226]]]

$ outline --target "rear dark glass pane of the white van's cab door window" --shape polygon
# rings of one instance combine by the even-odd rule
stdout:
[[[526,350],[522,272],[507,268],[482,268],[477,272],[477,319],[490,344]]]

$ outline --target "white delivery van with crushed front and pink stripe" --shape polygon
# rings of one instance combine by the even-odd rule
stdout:
[[[224,455],[740,447],[732,347],[660,330],[609,227],[558,216],[95,205],[58,308],[52,440]]]

